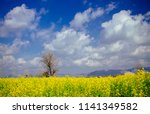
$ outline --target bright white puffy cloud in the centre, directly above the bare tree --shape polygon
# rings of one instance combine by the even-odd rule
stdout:
[[[64,28],[56,34],[56,38],[52,42],[45,43],[44,47],[45,49],[72,55],[89,45],[91,40],[92,38],[83,32],[77,32],[72,28]]]

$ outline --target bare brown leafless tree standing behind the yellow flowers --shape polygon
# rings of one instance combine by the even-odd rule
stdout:
[[[50,76],[54,76],[58,71],[56,68],[58,61],[56,60],[54,54],[51,52],[45,52],[42,56],[42,62],[45,64],[48,74]]]

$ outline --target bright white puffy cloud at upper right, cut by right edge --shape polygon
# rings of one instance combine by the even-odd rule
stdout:
[[[103,37],[110,42],[116,40],[130,41],[134,44],[150,43],[150,25],[142,15],[131,15],[131,11],[120,11],[112,20],[102,24]]]

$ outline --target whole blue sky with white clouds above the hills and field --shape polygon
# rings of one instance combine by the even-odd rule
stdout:
[[[150,66],[149,0],[0,0],[0,75]]]

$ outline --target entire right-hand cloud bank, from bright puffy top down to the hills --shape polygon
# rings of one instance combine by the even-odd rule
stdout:
[[[149,66],[150,24],[145,18],[125,10],[114,14],[112,20],[102,23],[100,45],[89,48],[88,56],[86,54],[74,63],[113,69],[134,67],[137,63]]]

